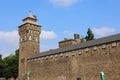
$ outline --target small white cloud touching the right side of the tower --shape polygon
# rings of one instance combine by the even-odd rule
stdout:
[[[41,39],[54,39],[57,37],[57,34],[53,31],[42,30],[40,38]]]

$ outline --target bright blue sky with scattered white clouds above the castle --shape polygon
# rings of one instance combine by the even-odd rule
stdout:
[[[18,26],[29,11],[42,25],[40,50],[58,48],[74,33],[86,35],[91,28],[96,38],[120,32],[120,0],[1,0],[0,53],[3,57],[19,48]]]

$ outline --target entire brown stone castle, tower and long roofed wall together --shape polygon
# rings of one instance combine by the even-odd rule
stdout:
[[[34,18],[32,15],[30,17]],[[20,32],[27,27],[36,30],[37,34],[30,34],[39,39],[41,26],[33,23],[25,23],[19,27],[20,39],[29,34],[26,31],[24,34]],[[79,36],[74,39],[78,38]],[[65,39],[59,42],[59,48],[40,53],[39,41],[29,41],[29,38],[28,41],[24,40],[20,41],[20,80],[27,80],[28,71],[31,73],[30,80],[101,80],[102,71],[106,80],[120,80],[120,34],[84,43]],[[67,40],[74,44],[67,45]]]

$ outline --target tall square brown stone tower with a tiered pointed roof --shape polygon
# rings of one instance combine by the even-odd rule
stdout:
[[[36,16],[31,13],[23,19],[19,27],[19,80],[26,79],[27,58],[40,53],[41,26],[37,23]]]

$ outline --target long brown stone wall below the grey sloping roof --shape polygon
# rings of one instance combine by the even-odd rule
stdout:
[[[120,42],[28,60],[30,80],[120,80]]]

